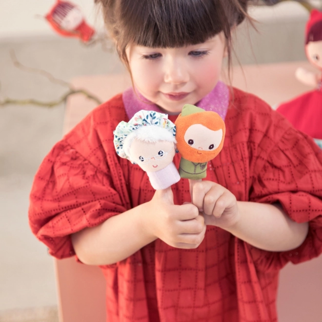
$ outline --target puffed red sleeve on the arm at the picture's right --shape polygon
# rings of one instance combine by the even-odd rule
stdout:
[[[322,253],[322,150],[286,124],[272,148],[258,149],[250,201],[279,202],[293,221],[309,222],[309,232],[302,245],[291,251],[268,252],[249,246],[257,268],[266,272]]]

